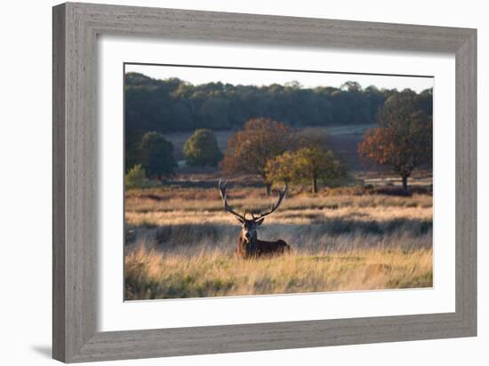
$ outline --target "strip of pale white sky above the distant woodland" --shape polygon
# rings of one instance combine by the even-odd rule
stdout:
[[[217,83],[242,85],[270,85],[299,82],[305,88],[333,86],[339,88],[348,81],[354,81],[366,88],[374,85],[378,89],[402,91],[410,88],[420,92],[433,87],[434,78],[422,76],[372,76],[357,74],[305,73],[300,71],[243,70],[229,68],[182,68],[155,65],[125,65],[125,72],[138,72],[155,79],[178,77],[190,84]]]

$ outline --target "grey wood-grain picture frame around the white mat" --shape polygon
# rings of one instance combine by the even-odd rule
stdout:
[[[477,335],[476,29],[76,3],[55,6],[52,25],[55,359],[91,362]],[[106,34],[453,54],[457,131],[455,312],[97,331],[96,45],[97,36]]]

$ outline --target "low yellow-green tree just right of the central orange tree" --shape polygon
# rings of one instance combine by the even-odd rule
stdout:
[[[339,179],[346,176],[345,166],[337,159],[332,150],[321,147],[303,147],[293,153],[293,177],[298,180],[309,180],[311,192],[317,193],[317,181]]]

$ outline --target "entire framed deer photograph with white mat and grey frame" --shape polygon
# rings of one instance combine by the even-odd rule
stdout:
[[[53,8],[53,357],[477,335],[477,31]]]

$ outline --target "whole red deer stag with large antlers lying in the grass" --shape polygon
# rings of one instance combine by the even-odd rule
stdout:
[[[219,181],[220,197],[224,203],[224,210],[232,213],[241,224],[241,236],[236,245],[236,257],[242,259],[253,259],[263,256],[273,256],[284,254],[291,251],[291,247],[283,240],[277,240],[277,242],[265,242],[258,239],[256,234],[257,227],[261,226],[263,220],[270,213],[276,211],[282,200],[284,199],[287,186],[282,191],[278,192],[277,203],[272,203],[272,207],[269,211],[261,212],[257,217],[252,213],[252,219],[246,219],[246,211],[243,215],[240,215],[234,211],[228,204],[228,195],[226,188],[228,187],[228,181]]]

